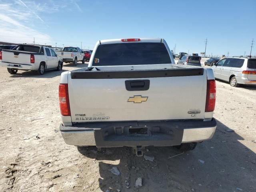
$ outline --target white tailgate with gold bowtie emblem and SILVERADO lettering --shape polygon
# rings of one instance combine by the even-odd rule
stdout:
[[[84,78],[69,72],[72,122],[203,119],[207,88],[204,69],[162,71],[155,77],[150,72],[138,72],[140,78],[136,73],[130,74],[134,78],[118,76],[118,72],[111,74],[115,78],[107,72],[107,77],[90,72]],[[158,72],[151,70],[151,74]]]

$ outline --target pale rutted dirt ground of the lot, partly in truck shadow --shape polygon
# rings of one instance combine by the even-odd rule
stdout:
[[[212,140],[183,154],[173,147],[149,147],[151,162],[130,148],[97,152],[66,145],[59,132],[60,74],[10,75],[0,68],[1,192],[256,191],[256,86],[233,88],[217,81]],[[115,166],[119,176],[109,171]],[[139,177],[142,186],[136,188]]]

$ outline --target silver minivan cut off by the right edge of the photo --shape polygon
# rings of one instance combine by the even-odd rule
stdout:
[[[232,87],[256,85],[256,58],[223,58],[212,69],[216,79],[229,82]]]

